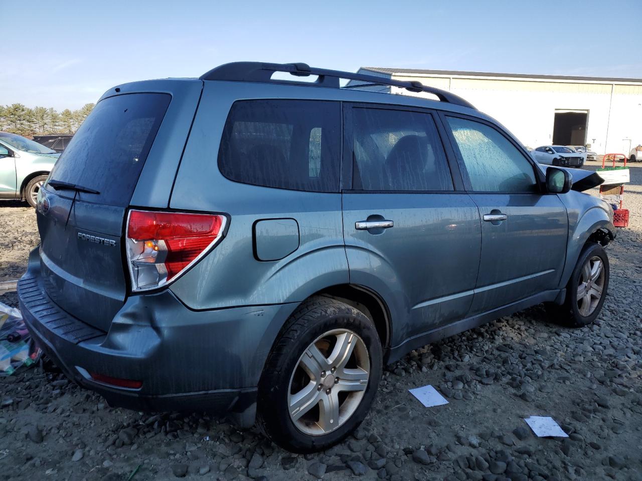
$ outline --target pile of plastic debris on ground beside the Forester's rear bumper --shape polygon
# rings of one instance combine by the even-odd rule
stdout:
[[[10,376],[23,365],[31,366],[41,353],[20,310],[0,302],[0,376]]]

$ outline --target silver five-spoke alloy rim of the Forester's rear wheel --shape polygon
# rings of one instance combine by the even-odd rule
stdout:
[[[288,411],[304,434],[339,428],[359,407],[370,378],[363,339],[347,329],[320,335],[299,358],[288,389]]]

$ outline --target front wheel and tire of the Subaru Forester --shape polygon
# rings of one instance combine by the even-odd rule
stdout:
[[[589,285],[586,285],[589,271],[596,270],[596,261],[602,263],[601,271],[593,273]],[[588,267],[587,267],[588,266]],[[589,269],[587,271],[586,269]],[[587,326],[600,315],[602,305],[609,289],[609,257],[600,244],[589,242],[584,246],[577,260],[575,269],[566,285],[566,299],[562,305],[546,304],[546,310],[555,321],[561,325],[578,328]],[[582,290],[582,285],[584,289]],[[588,289],[587,289],[588,287]],[[601,289],[601,290],[600,290]],[[581,296],[582,292],[589,291],[589,297]],[[599,292],[599,298],[596,297]]]

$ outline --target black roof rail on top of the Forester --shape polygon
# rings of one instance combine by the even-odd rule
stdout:
[[[248,81],[248,82],[273,82],[273,83],[291,83],[291,81],[272,80],[274,72],[290,72],[296,77],[307,77],[317,75],[318,79],[314,82],[299,82],[300,85],[312,85],[315,87],[334,87],[340,88],[339,80],[363,81],[363,84],[348,85],[348,89],[358,89],[360,87],[372,87],[376,85],[390,85],[401,87],[410,92],[427,92],[433,94],[442,102],[461,105],[473,108],[468,101],[462,97],[447,92],[446,90],[428,87],[421,82],[393,80],[392,78],[379,77],[374,75],[357,74],[354,72],[343,72],[338,70],[317,69],[310,67],[307,63],[263,63],[263,62],[232,62],[225,63],[215,67],[209,72],[200,76],[200,80],[227,80],[227,81]]]

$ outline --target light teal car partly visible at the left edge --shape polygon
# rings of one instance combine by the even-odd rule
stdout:
[[[0,132],[0,199],[36,207],[38,191],[60,153],[15,133]]]

